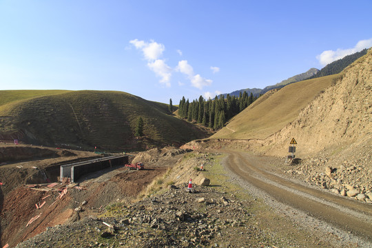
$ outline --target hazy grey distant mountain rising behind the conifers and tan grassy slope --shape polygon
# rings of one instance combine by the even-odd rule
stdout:
[[[285,85],[289,85],[289,83],[296,83],[298,81],[309,79],[309,78],[311,78],[311,76],[316,75],[318,72],[319,72],[318,69],[311,68],[307,72],[304,72],[304,73],[301,73],[301,74],[297,74],[295,76],[291,76],[289,79],[285,79],[285,80],[281,81],[280,83],[276,83],[276,85],[267,86],[263,90],[262,89],[258,89],[258,88],[236,90],[234,92],[231,92],[230,93],[230,96],[239,96],[240,92],[241,93],[247,92],[248,95],[250,95],[251,93],[253,93],[254,96],[259,96],[260,94],[265,94],[269,90],[273,90],[273,89],[277,89],[277,88],[280,88],[280,87],[284,87]],[[223,94],[223,96],[226,97],[227,94]]]

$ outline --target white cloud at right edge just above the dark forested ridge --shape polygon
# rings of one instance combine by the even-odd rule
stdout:
[[[372,46],[372,38],[367,40],[358,41],[358,43],[355,45],[354,48],[349,49],[340,49],[338,50],[326,50],[316,56],[316,59],[318,59],[319,63],[323,66],[328,65],[329,63],[332,63],[333,61],[336,61],[338,59],[342,59],[344,56],[353,54],[355,52],[360,52],[364,48],[370,48]]]

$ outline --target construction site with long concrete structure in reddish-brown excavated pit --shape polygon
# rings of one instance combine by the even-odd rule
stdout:
[[[133,156],[58,147],[0,145],[0,246],[15,247],[48,227],[132,200],[167,167],[125,167]]]

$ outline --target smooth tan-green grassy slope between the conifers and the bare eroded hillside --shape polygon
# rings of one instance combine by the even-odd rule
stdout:
[[[309,79],[267,92],[211,138],[267,138],[293,121],[304,107],[339,76],[335,74]]]

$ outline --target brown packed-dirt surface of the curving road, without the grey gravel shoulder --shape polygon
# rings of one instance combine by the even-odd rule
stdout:
[[[295,183],[272,172],[269,158],[245,152],[226,152],[225,166],[245,183],[266,192],[280,203],[372,241],[372,205]]]

